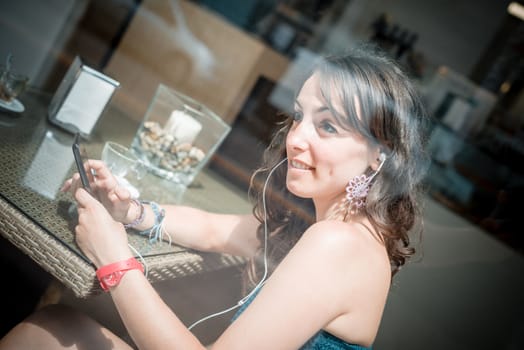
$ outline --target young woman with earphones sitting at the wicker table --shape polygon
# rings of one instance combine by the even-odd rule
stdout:
[[[176,244],[251,258],[255,292],[213,349],[371,347],[392,276],[414,252],[408,233],[420,219],[424,120],[414,87],[380,52],[323,58],[253,177],[253,215],[132,201],[105,165],[91,160],[100,202],[80,188],[77,174],[64,186],[78,203],[77,243],[100,278],[122,270],[119,281],[106,282],[138,348],[203,348],[128,247],[123,224],[148,230],[160,220]],[[9,347],[131,346],[54,306],[7,334],[0,348]]]

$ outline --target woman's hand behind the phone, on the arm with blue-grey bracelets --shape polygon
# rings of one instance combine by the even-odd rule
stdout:
[[[111,217],[118,222],[126,222],[129,209],[131,208],[131,194],[118,184],[116,178],[101,160],[90,159],[85,162],[89,184],[96,198],[107,209]],[[93,175],[96,174],[96,175]],[[67,180],[62,191],[71,191],[74,195],[82,187],[80,175],[75,173]],[[136,217],[130,215],[130,217]],[[132,221],[132,220],[127,220]]]

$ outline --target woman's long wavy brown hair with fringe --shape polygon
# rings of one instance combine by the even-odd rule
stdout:
[[[422,232],[420,194],[428,165],[428,124],[421,100],[408,75],[374,46],[320,58],[307,76],[313,73],[319,74],[322,95],[341,125],[356,130],[387,155],[361,214],[383,241],[394,275],[415,252],[410,235]],[[355,97],[360,102],[358,115]],[[342,102],[342,113],[334,108],[335,100]],[[287,162],[282,161],[291,124],[292,119],[287,118],[279,125],[261,167],[251,178],[249,194],[253,213],[261,222],[257,230],[261,247],[248,265],[250,283],[264,276],[264,258],[270,274],[315,221],[312,200],[299,198],[286,188]]]

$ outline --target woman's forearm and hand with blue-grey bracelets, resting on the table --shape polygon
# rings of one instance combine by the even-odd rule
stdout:
[[[140,217],[142,209],[131,200],[129,191],[118,184],[104,162],[90,159],[86,165],[90,170],[87,173],[91,188],[115,221],[129,224]],[[81,188],[81,182],[77,173],[65,182],[62,190],[76,193],[78,188]],[[176,244],[248,257],[255,254],[259,245],[256,239],[259,222],[253,215],[215,214],[169,204],[161,207],[166,212],[164,229]],[[155,224],[152,207],[144,204],[143,209],[143,221],[133,227],[138,231],[148,230]]]

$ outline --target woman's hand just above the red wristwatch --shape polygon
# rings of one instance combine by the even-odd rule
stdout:
[[[78,203],[76,242],[97,267],[131,258],[124,226],[113,220],[102,204],[83,188],[75,192]]]

